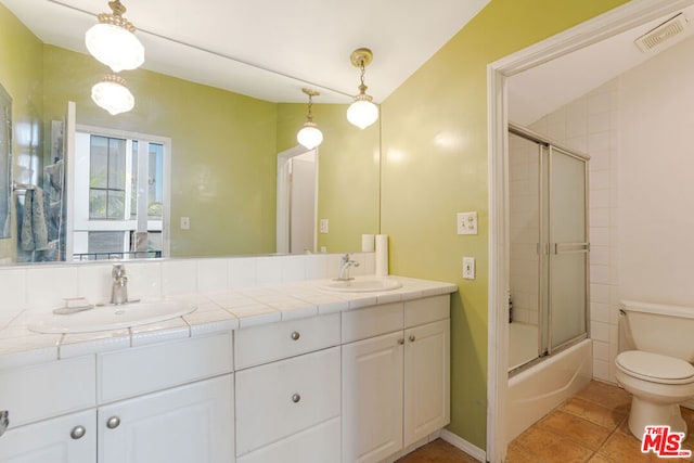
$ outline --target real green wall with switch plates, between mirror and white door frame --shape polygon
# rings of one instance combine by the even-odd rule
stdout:
[[[492,0],[382,104],[381,228],[395,274],[455,282],[450,430],[485,448],[487,65],[625,0]],[[479,234],[455,234],[476,210]],[[477,279],[462,280],[462,257]]]

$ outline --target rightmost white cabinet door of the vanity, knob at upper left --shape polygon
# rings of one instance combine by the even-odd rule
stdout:
[[[450,319],[404,332],[404,447],[450,422]]]

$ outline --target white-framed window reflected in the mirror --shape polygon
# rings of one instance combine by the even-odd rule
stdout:
[[[166,255],[168,139],[89,128],[76,133],[73,255]]]

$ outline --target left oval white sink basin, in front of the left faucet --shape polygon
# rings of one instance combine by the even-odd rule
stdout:
[[[50,313],[34,320],[28,329],[36,333],[111,331],[175,319],[196,308],[176,300],[105,305],[72,314]]]

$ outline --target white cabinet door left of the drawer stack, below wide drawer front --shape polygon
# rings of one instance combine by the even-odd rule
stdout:
[[[231,374],[101,407],[100,463],[234,461]]]

